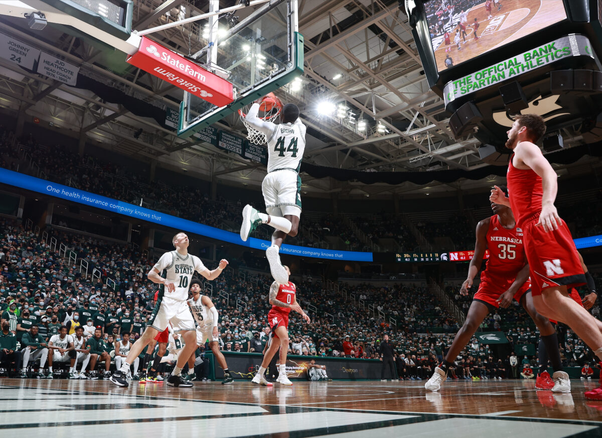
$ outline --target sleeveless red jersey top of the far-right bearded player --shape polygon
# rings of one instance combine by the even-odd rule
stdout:
[[[514,154],[508,163],[506,180],[510,208],[517,218],[517,225],[521,226],[525,220],[541,212],[544,190],[541,187],[541,177],[531,169],[517,169],[512,165],[513,159]]]

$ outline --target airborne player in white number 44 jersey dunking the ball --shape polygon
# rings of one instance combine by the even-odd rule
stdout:
[[[257,117],[258,99],[246,117],[246,122],[267,138],[267,175],[261,184],[267,214],[260,213],[250,205],[244,206],[240,238],[246,241],[259,224],[276,229],[272,235],[272,246],[265,250],[270,263],[272,277],[281,285],[288,283],[288,275],[278,255],[282,241],[287,235],[296,236],[301,215],[301,178],[299,170],[305,150],[306,126],[299,120],[299,108],[287,103],[282,108],[279,125],[265,122]]]

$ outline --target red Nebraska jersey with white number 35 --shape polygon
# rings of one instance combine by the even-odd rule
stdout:
[[[482,277],[514,279],[527,263],[524,257],[523,230],[518,226],[512,230],[505,229],[497,214],[489,220],[487,248],[489,259]]]

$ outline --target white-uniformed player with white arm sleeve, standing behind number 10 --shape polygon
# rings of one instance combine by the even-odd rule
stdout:
[[[231,384],[234,382],[226,363],[226,358],[220,351],[219,336],[220,330],[217,328],[217,322],[219,320],[219,314],[217,313],[216,306],[207,295],[200,294],[200,282],[199,280],[192,280],[190,285],[190,292],[192,292],[192,298],[188,300],[188,306],[192,316],[196,320],[196,345],[205,345],[206,339],[209,341],[209,347],[211,352],[216,357],[217,363],[222,367],[224,371],[224,378],[222,380],[223,385]],[[194,351],[188,359],[188,373],[194,373]]]

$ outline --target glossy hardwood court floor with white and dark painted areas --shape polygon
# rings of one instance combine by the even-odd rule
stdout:
[[[573,392],[535,390],[534,381],[235,381],[128,388],[109,381],[0,381],[3,436],[602,436],[602,402],[586,401],[595,382]]]

